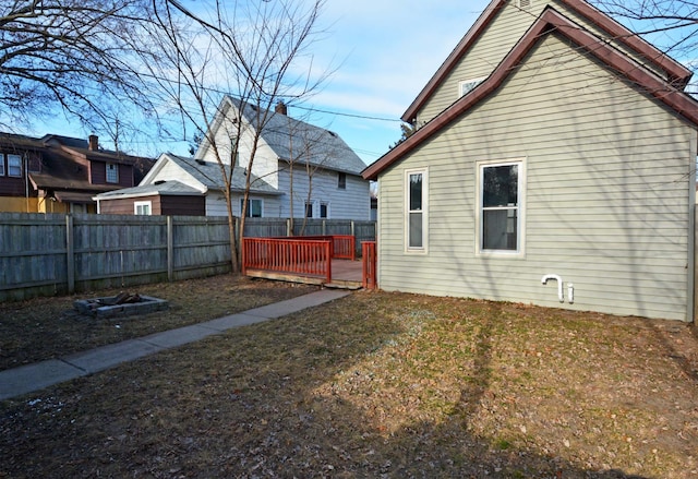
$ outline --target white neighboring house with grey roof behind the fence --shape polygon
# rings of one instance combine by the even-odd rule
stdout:
[[[242,197],[251,155],[256,107],[248,105],[239,115],[240,101],[226,96],[206,137],[215,137],[218,155],[230,167],[231,144],[241,132],[239,153],[232,175],[233,215],[242,212]],[[244,124],[238,128],[236,121]],[[361,177],[365,164],[334,132],[296,120],[287,115],[285,106],[268,112],[261,131],[250,175],[249,217],[312,217],[328,219],[369,220],[371,218],[370,182]],[[228,170],[229,171],[229,170]],[[292,181],[291,181],[292,178]],[[172,187],[177,182],[177,188]],[[213,145],[204,140],[193,158],[164,154],[135,188],[120,190],[119,194],[97,196],[101,213],[127,213],[142,204],[144,194],[156,199],[157,206],[173,204],[174,195],[190,192],[191,202],[205,197],[205,215],[226,216],[224,180]],[[151,201],[152,201],[151,200]],[[291,212],[292,204],[292,212]],[[135,209],[134,209],[135,211]],[[171,213],[172,208],[168,209]]]

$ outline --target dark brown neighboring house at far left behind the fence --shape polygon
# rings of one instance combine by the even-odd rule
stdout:
[[[133,187],[153,166],[98,143],[0,133],[0,212],[96,213],[95,194]]]

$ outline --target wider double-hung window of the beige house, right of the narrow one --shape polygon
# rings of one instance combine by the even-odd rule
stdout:
[[[522,159],[478,164],[480,253],[524,253],[525,181]]]

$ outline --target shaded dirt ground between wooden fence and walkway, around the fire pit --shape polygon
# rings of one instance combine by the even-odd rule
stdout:
[[[196,324],[314,290],[317,287],[238,275],[143,285],[129,291],[161,298],[169,302],[169,309],[116,319],[82,314],[73,302],[117,296],[122,292],[119,289],[0,303],[0,370]]]

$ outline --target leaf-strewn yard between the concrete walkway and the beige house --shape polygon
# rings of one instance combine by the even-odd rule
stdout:
[[[358,292],[0,404],[0,477],[696,478],[688,325]]]

